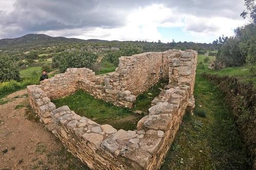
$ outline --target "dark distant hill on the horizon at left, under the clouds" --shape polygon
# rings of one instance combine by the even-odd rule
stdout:
[[[52,43],[72,43],[72,42],[108,42],[107,40],[89,39],[83,40],[78,38],[51,37],[45,34],[27,34],[19,38],[0,39],[0,47],[19,46],[19,45],[41,45]]]

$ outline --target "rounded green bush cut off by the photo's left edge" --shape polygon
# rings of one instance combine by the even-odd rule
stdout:
[[[9,56],[0,57],[0,82],[20,80],[18,66]]]

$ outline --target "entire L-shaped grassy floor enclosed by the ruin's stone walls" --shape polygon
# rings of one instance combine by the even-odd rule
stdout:
[[[139,120],[147,115],[151,102],[157,97],[168,80],[162,79],[156,85],[137,96],[135,107],[127,109],[118,107],[110,102],[95,99],[92,95],[82,90],[66,96],[65,98],[53,99],[56,108],[69,106],[76,114],[92,119],[98,124],[109,124],[115,129],[135,130]]]

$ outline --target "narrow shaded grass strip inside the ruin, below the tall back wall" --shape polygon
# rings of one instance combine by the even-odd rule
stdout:
[[[151,102],[161,91],[159,88],[163,88],[166,84],[168,84],[168,80],[161,80],[156,85],[152,86],[152,88],[138,95],[134,109],[148,112],[148,109],[151,107]]]

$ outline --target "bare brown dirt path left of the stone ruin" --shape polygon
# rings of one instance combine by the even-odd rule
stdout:
[[[88,169],[46,131],[28,104],[27,90],[0,105],[0,169]]]

